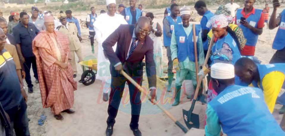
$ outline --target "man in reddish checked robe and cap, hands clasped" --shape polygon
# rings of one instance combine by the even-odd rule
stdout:
[[[57,120],[62,120],[61,112],[72,114],[74,90],[77,83],[73,80],[73,70],[69,59],[69,42],[66,35],[54,30],[52,15],[44,16],[46,30],[34,38],[32,47],[36,56],[39,75],[39,88],[42,106],[50,107]]]

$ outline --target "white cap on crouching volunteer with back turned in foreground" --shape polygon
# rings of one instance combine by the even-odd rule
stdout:
[[[231,79],[235,77],[235,67],[232,64],[215,63],[211,66],[211,77],[215,79]]]

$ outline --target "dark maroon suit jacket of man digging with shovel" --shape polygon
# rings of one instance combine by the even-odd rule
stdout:
[[[124,70],[131,77],[143,77],[143,64],[145,58],[146,73],[149,88],[156,87],[156,68],[153,60],[153,41],[147,35],[143,41],[138,41],[132,55],[126,60],[129,52],[134,25],[120,25],[103,43],[104,54],[110,60],[112,77],[122,76],[115,71],[114,65],[121,62]],[[116,51],[113,46],[117,43]]]

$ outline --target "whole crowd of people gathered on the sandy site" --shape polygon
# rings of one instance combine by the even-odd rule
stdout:
[[[279,125],[272,115],[276,103],[283,105],[279,113],[285,112],[285,94],[281,93],[285,87],[285,41],[282,39],[285,10],[277,16],[280,3],[273,1],[269,19],[268,4],[264,9],[255,9],[255,0],[244,0],[241,9],[230,0],[216,12],[208,10],[205,1],[198,0],[193,8],[202,19],[200,24],[193,25],[190,7],[180,7],[176,0],[170,2],[164,12],[163,26],[153,20],[153,13],[143,10],[142,4],[137,6],[137,0],[129,0],[129,7],[106,0],[106,11],[101,10],[97,15],[95,7],[91,7],[86,17],[91,53],[98,51],[96,77],[104,85],[103,100],[109,101],[106,135],[113,134],[126,84],[131,103],[129,126],[135,136],[142,135],[138,127],[141,92],[121,71],[142,85],[141,71],[145,67],[148,93],[153,102],[157,77],[165,77],[162,59],[165,48],[166,90],[173,92],[172,106],[180,103],[184,80],[192,80],[194,88],[200,86],[198,77],[208,80],[206,136],[223,133],[284,136],[285,116]],[[270,64],[260,64],[254,57],[265,23],[270,30],[278,27],[272,45],[277,51]],[[94,40],[98,42],[97,49]],[[75,54],[79,62],[83,61],[81,41],[80,24],[71,10],[60,11],[55,17],[51,11],[32,7],[31,16],[25,11],[11,11],[7,21],[0,9],[1,135],[30,135],[23,78],[28,92],[33,93],[31,68],[35,83],[39,84],[43,108],[50,108],[57,120],[64,119],[62,112],[75,113],[71,109],[74,90],[77,90]],[[173,80],[175,87],[172,87]],[[192,95],[187,98],[191,99]]]

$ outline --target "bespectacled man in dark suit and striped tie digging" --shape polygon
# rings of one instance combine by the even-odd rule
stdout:
[[[153,60],[153,41],[148,36],[150,22],[147,17],[140,17],[136,25],[120,25],[102,44],[105,56],[110,60],[111,93],[108,106],[109,117],[107,119],[106,135],[113,134],[115,117],[123,95],[125,82],[128,82],[130,103],[132,109],[131,130],[135,136],[141,136],[138,129],[141,100],[139,90],[132,85],[123,75],[126,71],[138,84],[143,80],[143,59],[145,58],[146,73],[150,89],[151,101],[156,93],[156,69]],[[116,51],[113,46],[117,43]]]

